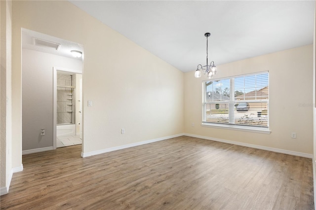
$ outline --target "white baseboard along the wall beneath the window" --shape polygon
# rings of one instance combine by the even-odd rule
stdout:
[[[303,153],[303,152],[296,152],[296,151],[290,151],[290,150],[285,150],[285,149],[277,149],[277,148],[273,148],[273,147],[260,146],[260,145],[243,143],[243,142],[232,141],[232,140],[222,140],[222,139],[217,139],[217,138],[212,138],[212,137],[204,137],[204,136],[199,136],[199,135],[194,135],[194,134],[184,134],[184,135],[188,136],[188,137],[195,137],[195,138],[205,139],[205,140],[220,141],[220,142],[224,142],[224,143],[236,144],[239,146],[246,146],[246,147],[262,149],[262,150],[267,150],[267,151],[272,151],[272,152],[278,152],[278,153],[283,153],[283,154],[288,154],[288,155],[313,158],[313,154],[308,154],[308,153]]]

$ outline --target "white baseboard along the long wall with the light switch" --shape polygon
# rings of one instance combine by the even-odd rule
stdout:
[[[86,152],[86,153],[81,152],[81,157],[85,158],[85,157],[89,157],[92,155],[99,155],[99,154],[106,153],[106,152],[112,152],[112,151],[119,150],[119,149],[126,149],[126,148],[133,147],[133,146],[139,146],[139,145],[143,145],[143,144],[147,144],[147,143],[153,143],[156,141],[167,140],[167,139],[172,139],[172,138],[181,137],[181,136],[184,136],[184,134],[176,134],[176,135],[172,135],[172,136],[168,136],[168,137],[161,137],[161,138],[153,139],[153,140],[145,140],[145,141],[140,141],[140,142],[136,142],[136,143],[115,146],[115,147],[111,147],[111,148],[107,148],[107,149],[101,149],[101,150],[97,150],[97,151],[93,151],[93,152]]]

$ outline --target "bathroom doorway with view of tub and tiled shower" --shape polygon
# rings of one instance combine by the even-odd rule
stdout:
[[[54,149],[82,144],[82,74],[53,68]]]

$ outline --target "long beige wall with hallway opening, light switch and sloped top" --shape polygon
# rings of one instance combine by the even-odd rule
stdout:
[[[84,153],[183,132],[183,72],[68,1],[13,1],[13,17],[15,164],[21,157],[21,28],[83,44]]]

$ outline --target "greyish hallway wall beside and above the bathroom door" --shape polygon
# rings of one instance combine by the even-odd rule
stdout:
[[[53,146],[53,67],[81,71],[82,61],[22,49],[23,151]]]

